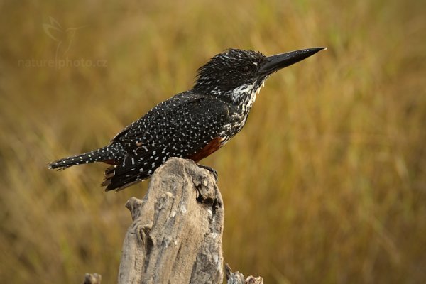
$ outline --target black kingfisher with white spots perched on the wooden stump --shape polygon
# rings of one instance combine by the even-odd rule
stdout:
[[[146,180],[168,158],[198,163],[222,148],[246,124],[256,94],[274,72],[326,48],[266,56],[230,48],[197,70],[192,89],[175,94],[126,126],[107,146],[48,164],[64,170],[103,162],[105,191],[123,190]],[[203,168],[215,170],[204,165]]]

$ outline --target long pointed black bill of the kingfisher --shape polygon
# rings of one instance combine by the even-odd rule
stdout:
[[[270,75],[272,72],[280,70],[284,67],[293,65],[299,61],[309,58],[320,50],[327,48],[307,48],[301,50],[290,51],[290,53],[280,53],[277,55],[268,56],[268,60],[258,71],[261,75]]]

